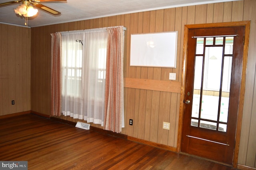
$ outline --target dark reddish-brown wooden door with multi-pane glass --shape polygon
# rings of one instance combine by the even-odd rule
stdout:
[[[244,29],[188,30],[182,152],[232,164]]]

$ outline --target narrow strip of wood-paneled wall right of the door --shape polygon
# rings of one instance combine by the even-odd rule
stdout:
[[[246,90],[238,163],[256,168],[256,0],[244,1],[243,20],[250,20]],[[240,17],[241,18],[241,17]]]

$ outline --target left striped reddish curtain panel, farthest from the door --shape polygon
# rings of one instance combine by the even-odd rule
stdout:
[[[52,33],[51,50],[51,115],[61,115],[61,96],[62,96],[62,73],[61,73],[61,34]]]

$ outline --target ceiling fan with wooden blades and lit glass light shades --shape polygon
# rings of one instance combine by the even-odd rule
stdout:
[[[16,3],[20,3],[22,2],[22,5],[26,8],[29,8],[30,7],[30,4],[32,4],[33,6],[37,7],[37,8],[40,8],[46,12],[49,12],[50,14],[53,14],[53,15],[59,15],[60,12],[52,9],[52,8],[49,8],[47,6],[44,6],[42,4],[40,4],[39,2],[53,2],[53,1],[66,1],[66,0],[14,0],[14,1],[10,1],[10,2],[4,2],[4,3],[1,3],[0,4],[0,7],[2,6],[6,6],[6,5],[10,5],[10,4],[16,4]],[[26,10],[26,9],[25,9]],[[15,10],[14,10],[15,11]],[[16,11],[15,11],[16,13]],[[17,14],[17,13],[16,13]],[[23,14],[22,14],[23,15]],[[26,16],[25,16],[26,17]],[[28,17],[28,16],[27,16]]]

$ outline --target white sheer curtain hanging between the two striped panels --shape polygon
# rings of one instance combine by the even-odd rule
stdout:
[[[62,114],[104,126],[104,30],[62,32]]]

